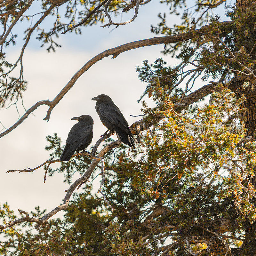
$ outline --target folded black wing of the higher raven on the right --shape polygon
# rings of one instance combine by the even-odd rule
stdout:
[[[122,130],[128,132],[129,124],[125,120],[119,108],[116,106],[109,106],[108,104],[100,104],[98,111],[102,116],[107,118],[111,124],[114,124]]]

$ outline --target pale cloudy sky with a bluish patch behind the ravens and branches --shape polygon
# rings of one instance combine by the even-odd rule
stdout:
[[[33,7],[36,10],[36,6]],[[40,48],[40,42],[32,39],[25,50],[23,58],[24,77],[28,81],[28,90],[24,93],[24,104],[28,109],[39,100],[52,100],[58,92],[68,83],[70,78],[84,63],[96,54],[127,42],[150,38],[155,36],[150,32],[150,25],[159,22],[157,14],[166,10],[165,4],[155,1],[141,6],[135,21],[120,26],[110,32],[111,28],[100,28],[100,24],[92,27],[82,27],[83,35],[66,33],[60,35],[58,42],[62,45],[55,53],[47,53]],[[33,12],[31,12],[33,13]],[[130,19],[133,11],[123,16],[123,21]],[[120,17],[113,17],[119,21]],[[170,25],[177,23],[177,16],[169,19]],[[44,23],[42,26],[48,26]],[[24,28],[18,25],[17,32]],[[35,33],[33,34],[35,37]],[[22,34],[20,38],[22,38]],[[21,44],[8,49],[8,57],[15,60],[20,53]],[[49,152],[44,150],[45,137],[57,132],[63,141],[76,121],[70,120],[74,116],[91,115],[94,120],[93,141],[100,138],[106,128],[101,124],[95,110],[95,101],[91,99],[98,94],[109,95],[120,108],[129,124],[138,120],[141,105],[137,103],[145,90],[146,84],[138,79],[135,71],[145,59],[154,62],[159,56],[163,45],[148,46],[121,53],[116,59],[112,56],[100,60],[81,76],[73,88],[65,95],[60,103],[53,109],[50,121],[43,120],[47,106],[41,106],[33,115],[30,115],[18,128],[0,139],[0,203],[8,202],[11,208],[30,212],[35,206],[41,209],[52,210],[62,203],[64,190],[69,186],[63,183],[63,175],[55,174],[44,179],[44,169],[35,172],[10,173],[7,170],[34,168],[49,158]],[[176,63],[170,56],[164,56],[169,65]],[[197,87],[202,84],[198,84]],[[195,88],[196,89],[196,88]],[[147,100],[150,102],[149,100]],[[24,110],[19,106],[20,114]],[[13,106],[0,111],[0,120],[9,128],[18,120],[18,113]],[[113,136],[116,139],[116,135]],[[56,165],[55,165],[56,166]],[[74,177],[74,179],[78,176]],[[99,188],[99,180],[95,180],[94,188]],[[59,212],[56,216],[62,216]],[[0,223],[1,224],[1,223]]]

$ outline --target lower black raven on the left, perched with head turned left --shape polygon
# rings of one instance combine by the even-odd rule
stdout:
[[[71,118],[77,120],[78,123],[73,125],[68,133],[66,146],[60,156],[60,161],[68,161],[76,151],[85,150],[92,142],[92,125],[91,116],[83,115]]]

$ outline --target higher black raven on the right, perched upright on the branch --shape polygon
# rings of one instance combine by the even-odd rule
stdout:
[[[97,100],[96,111],[100,116],[102,124],[108,128],[107,132],[115,131],[117,138],[120,141],[135,148],[134,141],[136,140],[132,135],[129,125],[120,109],[116,107],[111,98],[108,95],[100,94],[99,96],[92,98],[92,100]],[[105,132],[104,135],[107,134],[107,132]]]

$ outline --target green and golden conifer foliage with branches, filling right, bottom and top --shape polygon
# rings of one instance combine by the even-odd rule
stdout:
[[[24,10],[32,2],[0,4],[3,27],[11,28],[20,17],[28,19]],[[67,24],[57,19],[48,33],[39,30],[37,39],[50,51],[58,46],[53,37],[81,20],[87,18],[85,26],[104,22],[104,14],[117,15],[134,6],[135,17],[139,4],[150,1],[39,2],[42,17],[59,17],[58,7],[66,5],[65,17],[70,19]],[[1,202],[1,255],[256,255],[256,2],[238,0],[226,6],[226,22],[211,13],[218,12],[224,0],[198,0],[191,8],[185,1],[162,2],[172,14],[185,10],[182,22],[172,28],[166,14],[159,14],[160,23],[151,26],[153,33],[180,38],[163,42],[164,53],[180,64],[169,66],[162,58],[154,63],[145,60],[141,67],[137,63],[139,79],[146,83],[140,99],[143,119],[130,128],[140,144],[132,149],[105,136],[99,148],[89,150],[92,155],[76,154],[52,168],[64,145],[57,134],[47,136],[50,158],[42,164],[46,173],[60,172],[68,184],[77,173],[83,178],[85,170],[88,177],[76,186],[72,183],[73,191],[79,190],[70,200],[65,197],[60,219],[54,214],[48,218],[39,206],[16,216]],[[73,8],[78,4],[84,9],[77,17]],[[76,29],[81,32],[81,27]],[[2,108],[19,100],[27,86],[22,72],[20,78],[9,79],[18,62],[22,70],[24,49],[16,64],[9,63],[3,49],[15,42],[16,35],[5,33],[0,38]],[[203,83],[208,84],[195,90]],[[200,101],[208,94],[209,103]],[[144,97],[155,107],[148,107]],[[52,107],[49,102],[45,104]],[[102,183],[95,184],[100,173]],[[93,186],[100,186],[103,196],[94,193]]]

